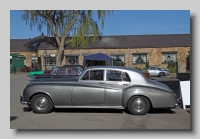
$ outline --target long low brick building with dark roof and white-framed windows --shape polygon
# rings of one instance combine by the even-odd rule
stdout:
[[[190,34],[102,36],[85,48],[66,46],[62,65],[82,65],[84,56],[103,53],[119,59],[127,67],[144,68],[149,62],[149,65],[166,68],[170,60],[178,62],[179,72],[186,72],[190,45]],[[34,62],[42,69],[55,65],[56,52],[54,43],[47,41],[43,33],[36,38],[10,39],[10,54],[24,55],[26,66]]]

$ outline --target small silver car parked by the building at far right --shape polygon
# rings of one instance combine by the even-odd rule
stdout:
[[[158,66],[149,66],[147,70],[149,71],[150,76],[164,77],[170,75],[170,72],[167,69]]]

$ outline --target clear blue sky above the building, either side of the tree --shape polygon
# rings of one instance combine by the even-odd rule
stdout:
[[[21,15],[18,10],[10,10],[10,39],[34,38],[42,32],[47,34],[46,27],[42,32],[37,28],[30,30]],[[98,21],[96,16],[94,18]],[[189,34],[190,10],[113,10],[113,14],[105,19],[104,29],[100,27],[100,30],[103,36]]]

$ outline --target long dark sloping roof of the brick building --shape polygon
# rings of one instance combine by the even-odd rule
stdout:
[[[52,44],[44,41],[46,36],[40,39],[38,50],[55,50]],[[43,41],[41,41],[43,39]],[[11,51],[27,51],[36,39],[11,39]],[[32,43],[30,43],[32,42]],[[37,41],[36,41],[37,42]],[[29,45],[27,45],[29,44]],[[27,48],[27,46],[29,46]],[[124,35],[124,36],[102,36],[95,43],[89,43],[85,49],[120,49],[120,48],[160,48],[160,47],[190,47],[190,34],[161,34],[161,35]],[[72,49],[67,46],[65,49]],[[78,48],[81,49],[81,48]]]

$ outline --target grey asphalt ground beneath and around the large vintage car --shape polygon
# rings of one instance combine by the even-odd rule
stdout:
[[[29,82],[27,73],[10,74],[10,129],[165,129],[190,130],[190,113],[182,108],[153,109],[143,116],[127,110],[54,109],[35,114],[21,105],[19,95]],[[164,78],[162,78],[163,80]]]

